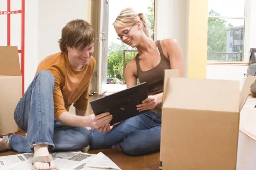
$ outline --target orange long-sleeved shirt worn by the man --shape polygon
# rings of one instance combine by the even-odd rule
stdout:
[[[69,111],[70,106],[86,110],[89,99],[89,84],[93,77],[96,61],[90,57],[89,63],[81,70],[75,70],[65,53],[56,53],[46,57],[38,65],[36,74],[42,70],[50,71],[55,77],[54,118]]]

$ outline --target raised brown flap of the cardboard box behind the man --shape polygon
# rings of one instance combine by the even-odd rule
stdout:
[[[17,46],[0,46],[0,61],[0,75],[21,76]]]

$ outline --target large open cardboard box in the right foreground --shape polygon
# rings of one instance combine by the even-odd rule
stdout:
[[[240,111],[255,77],[240,82],[167,78],[160,169],[236,170]]]

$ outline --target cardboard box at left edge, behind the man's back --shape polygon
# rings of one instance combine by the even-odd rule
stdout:
[[[0,46],[0,133],[17,132],[14,110],[22,98],[17,46]]]

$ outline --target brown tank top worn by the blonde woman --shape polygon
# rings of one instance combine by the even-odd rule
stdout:
[[[146,82],[148,95],[155,95],[163,92],[164,70],[170,69],[170,61],[164,56],[160,41],[157,41],[157,48],[160,53],[160,63],[148,71],[141,71],[139,65],[139,54],[136,55],[137,78],[141,83]],[[162,114],[162,104],[158,104],[154,109],[154,113]]]

